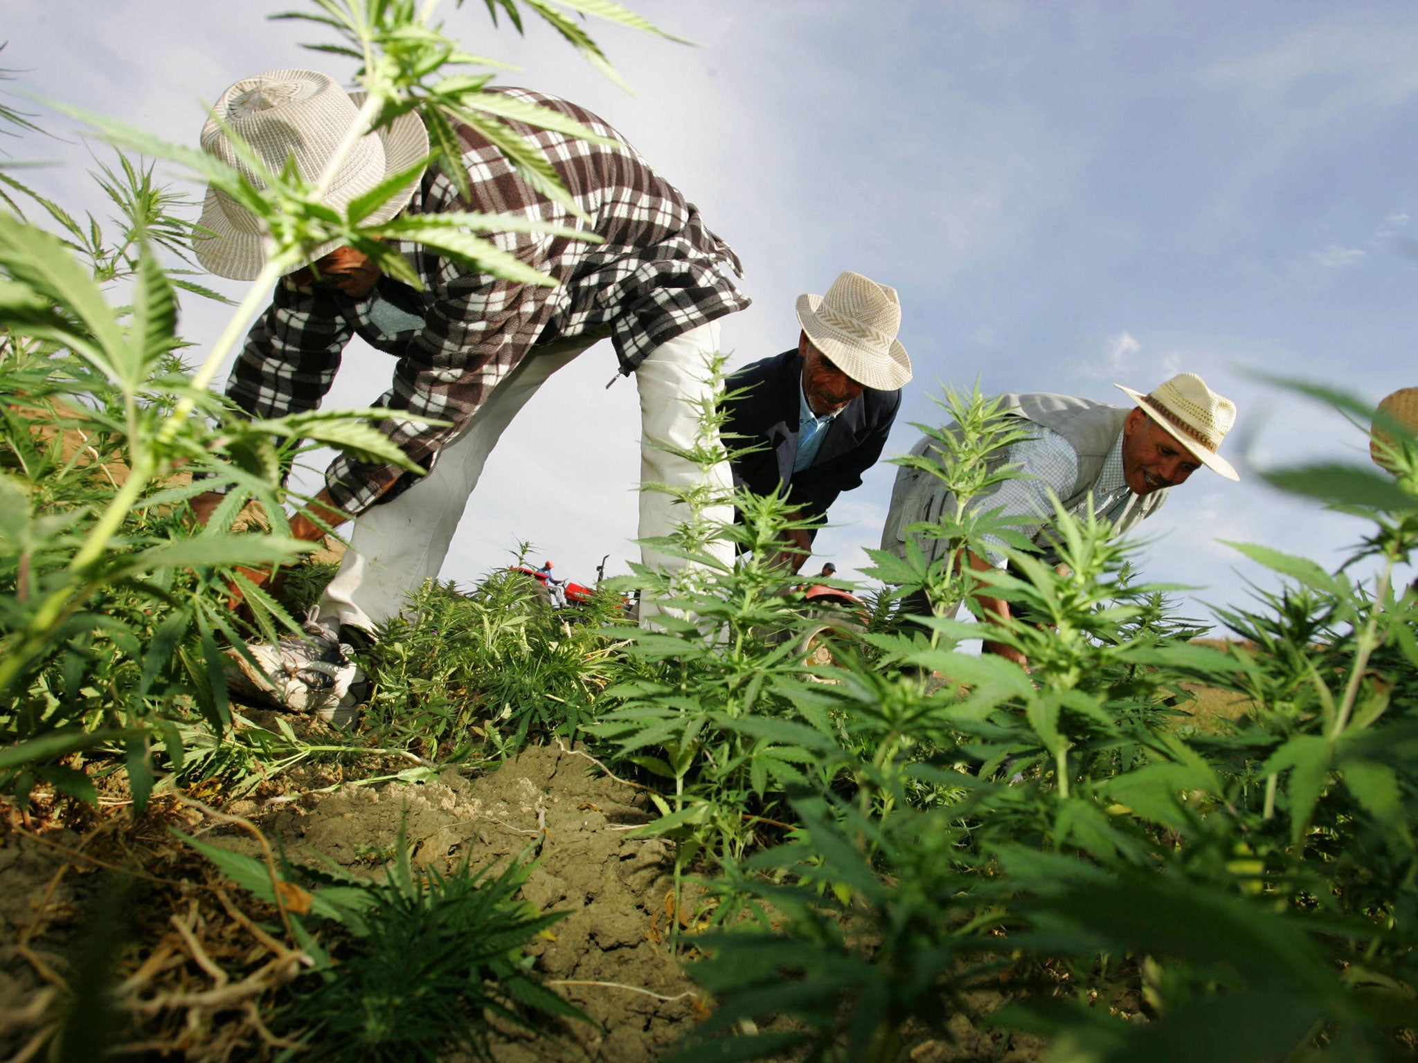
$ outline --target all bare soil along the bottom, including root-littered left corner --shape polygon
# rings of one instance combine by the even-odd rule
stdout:
[[[527,951],[542,978],[594,1025],[559,1022],[536,1036],[495,1022],[498,1063],[649,1063],[664,1059],[712,1006],[668,941],[671,920],[678,917],[682,928],[693,923],[696,890],[686,887],[676,913],[671,845],[630,836],[652,818],[644,794],[607,778],[584,754],[533,747],[478,778],[450,768],[434,782],[347,784],[277,801],[235,801],[227,812],[257,823],[291,860],[312,867],[333,862],[379,876],[401,828],[414,862],[440,870],[464,859],[478,869],[536,857],[522,896],[543,911],[569,914]],[[11,821],[11,832],[0,833],[0,1056],[43,1056],[65,999],[60,978],[47,972],[68,969],[84,913],[123,882],[133,883],[123,901],[132,926],[116,975],[128,986],[129,1018],[140,1020],[130,1036],[156,1049],[153,1059],[228,1063],[274,1054],[278,1039],[258,1016],[298,967],[257,978],[252,992],[224,1005],[189,1012],[180,1003],[230,992],[261,964],[274,969],[271,957],[254,950],[252,924],[238,909],[268,924],[275,910],[224,882],[167,828],[252,856],[259,853],[254,838],[166,799],[136,826],[126,809],[85,819],[82,832],[37,835]],[[692,933],[681,943],[692,955]],[[230,982],[213,985],[217,967],[230,972]],[[1004,1001],[997,992],[976,996],[967,1001],[976,1016]],[[902,1057],[913,1063],[1032,1063],[1044,1049],[1038,1037],[990,1030],[966,1015],[953,1016],[944,1036],[905,1030],[903,1042]]]

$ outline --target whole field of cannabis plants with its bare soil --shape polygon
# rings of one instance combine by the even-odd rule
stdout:
[[[318,10],[363,64],[366,118],[481,113],[482,81],[440,74],[469,57],[427,10]],[[313,444],[400,452],[367,411],[248,421],[208,384],[301,248],[379,247],[387,227],[363,218],[393,189],[336,215],[289,173],[257,189],[91,120],[267,218],[277,272],[193,367],[179,292],[210,293],[152,164],[98,174],[106,227],[0,171],[0,1045],[17,1059],[1414,1053],[1418,597],[1394,574],[1418,543],[1418,445],[1401,427],[1392,475],[1271,475],[1350,513],[1358,546],[1327,571],[1236,544],[1279,590],[1205,643],[1103,523],[1061,513],[1054,567],[1010,514],[966,510],[1008,475],[988,458],[1011,429],[947,394],[940,422],[961,431],[925,465],[959,505],[916,530],[951,558],[1015,543],[984,578],[1028,668],[957,652],[977,628],[954,619],[970,585],[951,558],[876,557],[865,631],[810,612],[764,560],[786,503],[740,496],[743,523],[696,516],[659,543],[693,567],[573,609],[506,573],[424,587],[360,655],[357,721],[325,726],[234,702],[224,651],[296,631],[329,577],[251,578],[308,549],[284,465]],[[720,421],[703,411],[705,462]],[[197,527],[186,503],[213,485],[227,502]],[[624,619],[632,590],[671,607],[661,628]],[[916,591],[927,622],[896,612]],[[824,626],[831,652],[807,663]]]

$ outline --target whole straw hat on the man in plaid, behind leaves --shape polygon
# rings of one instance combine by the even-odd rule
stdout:
[[[233,149],[231,135],[235,135],[271,171],[279,173],[288,159],[295,159],[301,177],[315,181],[357,119],[363,102],[363,92],[346,92],[333,78],[318,71],[274,69],[257,74],[221,94],[203,126],[201,150],[261,184]],[[427,154],[428,130],[423,120],[413,112],[400,115],[383,129],[360,137],[330,181],[325,203],[340,208],[389,174],[408,169]],[[407,189],[370,214],[366,223],[389,221],[398,214],[417,186],[415,177]],[[191,247],[199,262],[217,276],[233,281],[257,278],[267,261],[265,228],[251,211],[227,193],[208,186],[199,225],[207,230],[193,238]],[[295,272],[339,245],[340,241],[336,240],[318,247],[288,272]]]

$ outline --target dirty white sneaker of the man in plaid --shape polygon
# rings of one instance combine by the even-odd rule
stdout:
[[[252,666],[235,648],[225,649],[224,665],[231,689],[295,713],[308,713],[330,723],[347,724],[364,693],[364,672],[350,660],[353,652],[332,631],[316,622],[312,605],[301,624],[305,635],[247,646]]]

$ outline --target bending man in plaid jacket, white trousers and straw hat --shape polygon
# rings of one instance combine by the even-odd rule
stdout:
[[[397,213],[499,211],[590,230],[601,242],[545,232],[505,232],[495,244],[519,261],[553,276],[545,288],[499,281],[438,257],[420,244],[398,244],[425,291],[394,281],[367,257],[343,247],[284,278],[271,308],[247,337],[227,384],[227,394],[255,417],[279,417],[320,404],[356,334],[393,354],[393,386],[379,405],[451,421],[428,428],[407,421],[380,424],[413,461],[430,472],[411,476],[393,465],[337,458],[318,496],[319,512],[340,523],[359,516],[350,550],[319,607],[322,626],[370,632],[396,615],[410,591],[435,577],[454,529],[478,483],[488,452],[537,387],[600,339],[610,337],[621,373],[640,388],[641,478],[692,483],[696,466],[664,446],[688,448],[696,432],[692,400],[705,393],[705,359],[719,347],[718,319],[749,300],[739,292],[742,266],[723,241],[705,228],[695,207],[659,177],[596,115],[562,99],[525,89],[501,89],[510,101],[552,108],[611,137],[597,145],[522,123],[509,123],[542,149],[590,225],[522,180],[502,153],[471,128],[458,128],[462,163],[472,186],[464,201],[454,183],[428,170]],[[278,170],[288,154],[308,145],[340,139],[354,120],[349,95],[312,71],[272,71],[238,82],[218,101],[214,115],[265,153]],[[340,126],[340,123],[345,123]],[[271,130],[275,130],[274,133]],[[292,132],[295,146],[292,147]],[[269,133],[269,135],[267,135]],[[227,133],[210,120],[203,146],[221,154]],[[387,174],[427,153],[417,115],[406,115],[364,137],[381,150],[363,187],[332,184],[340,206]],[[267,147],[267,142],[271,146]],[[315,149],[309,149],[315,150]],[[325,156],[329,157],[328,154]],[[323,160],[311,162],[319,173]],[[250,215],[210,190],[203,227],[214,237],[194,242],[213,272],[254,278],[261,268],[259,230]],[[255,237],[242,230],[257,228]],[[430,468],[431,466],[431,468]],[[727,463],[716,469],[727,485]],[[640,536],[668,534],[676,523],[664,495],[640,496]],[[306,540],[323,532],[298,516],[292,532]],[[647,564],[678,564],[645,554]]]

